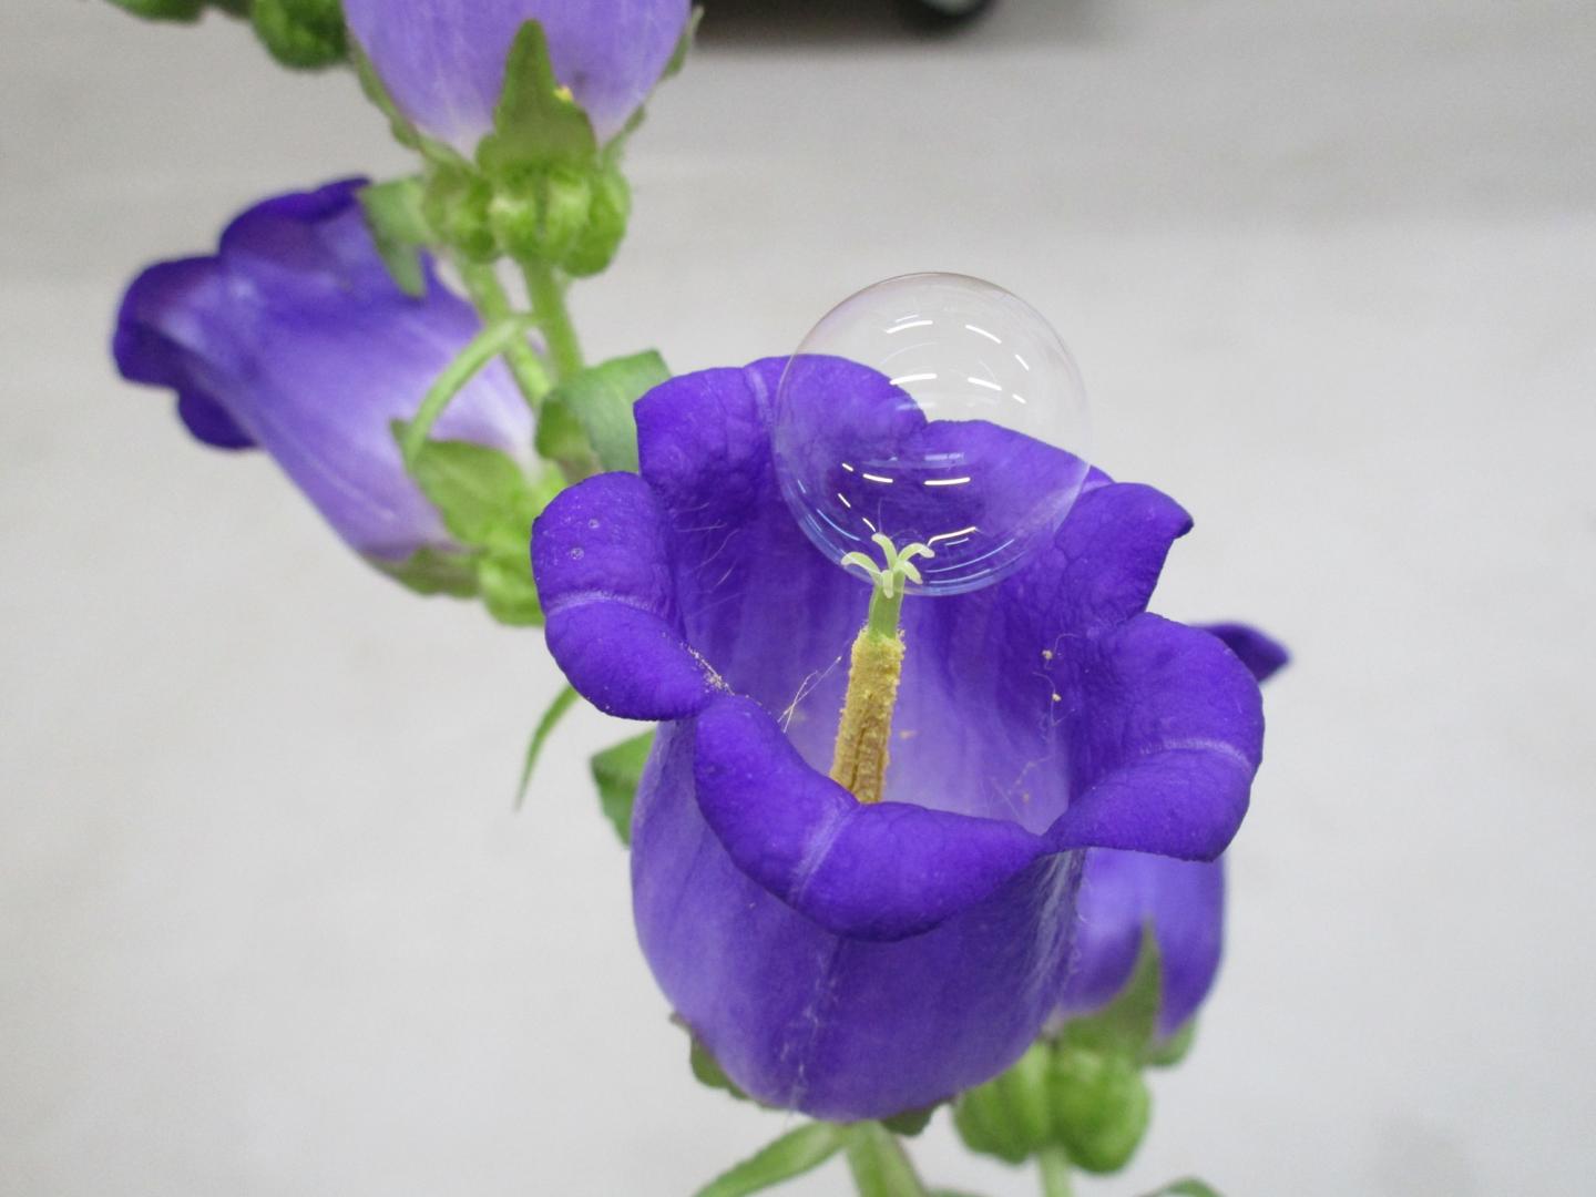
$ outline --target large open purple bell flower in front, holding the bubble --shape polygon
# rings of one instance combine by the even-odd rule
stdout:
[[[905,603],[886,801],[857,803],[825,769],[870,589],[780,496],[782,367],[683,375],[638,401],[642,476],[560,495],[533,571],[576,689],[662,720],[632,883],[666,996],[755,1098],[884,1117],[990,1079],[1036,1037],[1069,961],[1080,849],[1224,851],[1262,715],[1218,638],[1144,611],[1186,512],[1093,474],[1017,573]],[[884,380],[838,369],[835,428],[926,436],[873,426]],[[1023,448],[1009,460],[1037,477],[1065,456]]]

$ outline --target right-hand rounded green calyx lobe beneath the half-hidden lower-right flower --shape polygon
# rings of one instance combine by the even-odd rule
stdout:
[[[1049,1074],[1053,1128],[1085,1171],[1119,1171],[1148,1133],[1152,1096],[1122,1055],[1060,1044]]]

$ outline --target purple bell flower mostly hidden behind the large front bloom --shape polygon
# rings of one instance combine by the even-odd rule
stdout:
[[[1258,681],[1288,654],[1262,632],[1213,624]],[[1063,1015],[1108,1005],[1130,982],[1144,929],[1159,946],[1157,1034],[1170,1039],[1208,996],[1224,940],[1224,859],[1173,860],[1098,847],[1087,852],[1079,897],[1080,924],[1060,1001]]]

